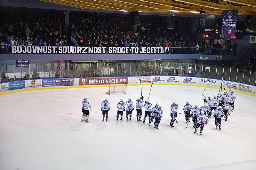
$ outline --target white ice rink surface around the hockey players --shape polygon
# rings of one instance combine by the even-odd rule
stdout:
[[[142,86],[148,98],[150,86]],[[221,130],[214,118],[194,134],[192,121],[186,128],[184,114],[169,126],[170,105],[188,100],[204,105],[204,88],[153,85],[150,102],[162,105],[163,117],[154,126],[132,120],[116,121],[116,104],[129,97],[135,103],[140,86],[128,86],[127,94],[107,95],[108,88],[78,88],[18,92],[0,96],[0,170],[99,170],[99,169],[255,169],[255,97],[236,93],[235,109],[222,118]],[[218,90],[206,88],[205,96]],[[81,122],[84,97],[92,105],[89,122]],[[111,110],[102,122],[100,104],[108,97]],[[145,109],[142,107],[144,117]],[[120,118],[119,118],[120,120]]]

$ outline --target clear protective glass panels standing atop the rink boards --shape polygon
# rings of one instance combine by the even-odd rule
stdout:
[[[256,84],[256,70],[171,62],[141,63],[30,63],[0,66],[0,82],[35,78],[75,78],[105,76],[191,76]]]

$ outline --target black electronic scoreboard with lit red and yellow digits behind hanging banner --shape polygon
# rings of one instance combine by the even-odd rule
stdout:
[[[231,34],[229,30],[228,33]],[[236,30],[236,34],[234,36],[231,36],[231,39],[242,39],[244,35],[244,30]],[[224,34],[224,37],[222,37],[221,28],[205,28],[203,33],[204,39],[226,39],[226,36]]]

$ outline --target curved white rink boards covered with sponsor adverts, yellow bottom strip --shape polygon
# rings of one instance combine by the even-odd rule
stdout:
[[[58,88],[86,88],[86,87],[108,87],[109,83],[122,82],[130,85],[188,85],[207,88],[220,88],[221,80],[214,78],[188,77],[188,76],[123,76],[123,77],[95,77],[95,78],[44,78],[44,79],[29,79],[18,80],[0,83],[0,95],[44,89]],[[224,87],[236,92],[256,96],[256,86],[234,81],[223,81],[222,90]],[[129,89],[127,91],[129,93]]]

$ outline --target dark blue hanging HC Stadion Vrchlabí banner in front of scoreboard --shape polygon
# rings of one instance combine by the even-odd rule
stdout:
[[[236,22],[237,10],[223,10],[221,38],[235,39],[236,38]]]

